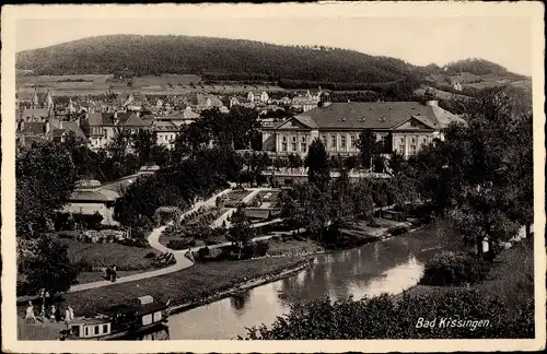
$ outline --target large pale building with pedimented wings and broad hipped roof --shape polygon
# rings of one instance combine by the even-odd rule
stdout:
[[[276,155],[307,154],[318,138],[327,153],[359,153],[357,142],[364,129],[371,129],[386,151],[405,157],[441,138],[441,130],[459,117],[440,108],[434,91],[428,88],[423,102],[330,103],[323,93],[317,106],[275,127],[263,127],[263,150]]]

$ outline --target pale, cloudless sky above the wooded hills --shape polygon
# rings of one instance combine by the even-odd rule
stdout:
[[[178,19],[20,19],[15,50],[109,35],[189,35],[323,45],[388,56],[412,64],[482,58],[510,71],[532,74],[532,24],[520,16],[219,16]]]

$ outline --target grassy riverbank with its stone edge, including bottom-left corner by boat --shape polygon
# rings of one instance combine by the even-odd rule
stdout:
[[[136,297],[152,295],[160,302],[170,300],[173,311],[182,311],[278,279],[290,276],[307,267],[305,257],[265,257],[259,259],[194,264],[190,268],[130,283],[114,284],[65,296],[58,306],[71,305],[75,316],[94,316],[103,309],[128,304]],[[18,322],[21,340],[56,340],[58,332],[47,324]]]

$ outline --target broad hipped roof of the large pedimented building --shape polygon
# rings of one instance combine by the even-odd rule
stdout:
[[[452,121],[462,121],[457,116],[437,106],[418,102],[353,102],[333,103],[316,107],[291,118],[307,128],[318,129],[393,129],[411,118],[429,129],[439,130]],[[282,128],[287,121],[276,128]]]

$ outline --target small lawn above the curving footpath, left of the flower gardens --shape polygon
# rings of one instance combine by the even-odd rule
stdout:
[[[119,271],[141,271],[152,269],[152,258],[144,258],[149,252],[159,255],[160,251],[148,247],[131,247],[116,243],[88,244],[73,239],[59,238],[61,244],[68,246],[70,261],[82,263],[92,269],[115,264]],[[89,269],[91,271],[91,269]],[[120,273],[121,275],[121,273]]]

